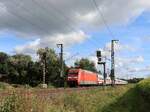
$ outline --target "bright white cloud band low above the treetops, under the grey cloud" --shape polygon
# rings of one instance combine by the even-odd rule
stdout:
[[[62,43],[65,47],[70,46],[75,43],[81,43],[85,39],[89,38],[82,31],[71,32],[68,34],[57,34],[54,36],[45,37],[43,39],[36,39],[25,45],[20,45],[15,48],[16,53],[34,53],[38,48],[41,47],[55,47],[56,43]]]

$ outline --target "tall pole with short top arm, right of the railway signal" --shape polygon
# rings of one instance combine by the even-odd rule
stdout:
[[[114,49],[114,43],[118,42],[119,40],[111,40],[111,83],[112,85],[115,84],[115,49]]]

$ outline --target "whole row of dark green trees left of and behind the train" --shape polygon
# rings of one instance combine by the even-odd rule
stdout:
[[[54,86],[63,86],[64,78],[60,77],[60,57],[54,49],[40,48],[37,51],[39,59],[33,61],[30,55],[8,55],[0,52],[0,74],[5,76],[5,82],[11,84],[29,84],[37,86],[43,83],[43,69],[45,82]],[[69,67],[64,64],[64,77],[67,76]],[[94,62],[87,58],[76,60],[73,67],[97,72]]]

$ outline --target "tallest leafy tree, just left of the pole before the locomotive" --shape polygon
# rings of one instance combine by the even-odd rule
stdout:
[[[37,51],[43,71],[43,83],[57,85],[60,82],[59,58],[53,49],[41,48]]]

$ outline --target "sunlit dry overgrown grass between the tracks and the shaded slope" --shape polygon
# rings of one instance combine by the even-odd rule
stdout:
[[[102,112],[105,106],[117,101],[118,97],[126,93],[129,88],[131,88],[131,85],[115,88],[100,87],[80,92],[58,93],[52,96],[36,96],[30,94],[20,96],[17,92],[16,94],[6,97],[1,104],[1,109],[7,109],[9,107],[9,111],[0,112],[12,112],[10,110],[16,107],[18,108],[13,112]],[[38,92],[38,90],[36,90],[36,92]],[[18,105],[18,102],[22,103]],[[32,108],[37,108],[37,111],[30,111]],[[43,110],[38,111],[38,108]]]

